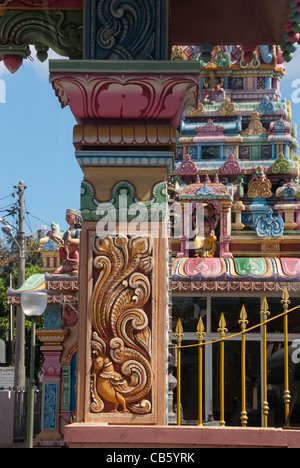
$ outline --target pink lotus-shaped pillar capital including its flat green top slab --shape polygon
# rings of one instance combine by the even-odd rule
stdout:
[[[53,88],[76,120],[161,121],[174,127],[198,94],[197,64],[63,62],[50,64]],[[84,72],[81,70],[84,69]]]

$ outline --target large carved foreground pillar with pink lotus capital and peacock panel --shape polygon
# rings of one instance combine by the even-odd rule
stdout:
[[[164,425],[168,197],[197,64],[53,62],[83,173],[77,421]],[[66,428],[66,437],[72,426]]]

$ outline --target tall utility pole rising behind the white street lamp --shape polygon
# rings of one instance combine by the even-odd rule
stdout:
[[[18,288],[25,282],[25,214],[24,214],[24,191],[27,187],[24,182],[14,187],[19,197],[19,258],[18,258]],[[15,390],[21,390],[25,387],[25,314],[21,307],[17,307],[16,320],[16,348],[15,348]]]

